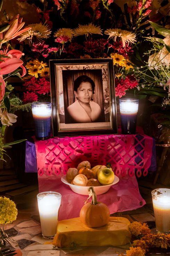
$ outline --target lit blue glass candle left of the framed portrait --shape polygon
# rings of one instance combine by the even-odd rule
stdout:
[[[37,140],[50,138],[51,103],[32,103],[32,113],[35,123],[35,137]]]

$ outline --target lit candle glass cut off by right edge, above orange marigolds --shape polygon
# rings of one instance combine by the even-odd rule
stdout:
[[[152,192],[156,231],[170,232],[170,189],[156,188]]]

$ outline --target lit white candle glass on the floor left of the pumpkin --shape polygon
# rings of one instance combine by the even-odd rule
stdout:
[[[58,211],[61,204],[61,194],[57,192],[42,192],[37,195],[42,236],[53,238],[57,232]]]

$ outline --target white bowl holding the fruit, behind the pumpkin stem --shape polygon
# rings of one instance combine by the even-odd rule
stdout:
[[[71,188],[71,190],[73,190],[73,192],[80,194],[80,195],[88,195],[88,187],[77,186],[77,185],[68,183],[68,181],[66,179],[66,175],[61,177],[61,181],[65,184],[67,184]],[[118,182],[119,182],[119,178],[116,175],[114,175],[114,180],[111,184],[104,185],[104,186],[94,186],[93,188],[94,188],[96,195],[101,195],[101,194],[106,193],[112,185],[114,185]]]

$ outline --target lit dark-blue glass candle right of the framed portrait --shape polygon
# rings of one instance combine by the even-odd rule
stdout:
[[[121,133],[135,134],[139,100],[120,99]]]

